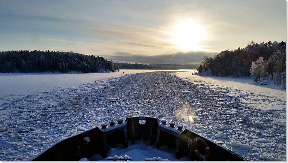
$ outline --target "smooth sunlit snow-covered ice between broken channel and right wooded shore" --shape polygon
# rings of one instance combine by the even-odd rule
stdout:
[[[244,97],[240,98],[244,105],[262,110],[282,110],[285,108],[286,113],[286,89],[267,88],[267,86],[271,86],[272,88],[281,88],[281,86],[255,85],[253,82],[254,77],[192,76],[192,73],[193,72],[179,72],[177,76],[202,86],[207,85],[213,89],[225,91],[225,89],[229,88],[230,93],[226,91],[226,94],[229,96]],[[215,98],[219,98],[217,95],[215,96]]]

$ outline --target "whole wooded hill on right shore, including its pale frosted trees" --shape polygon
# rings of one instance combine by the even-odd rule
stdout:
[[[215,53],[214,57],[205,56],[197,68],[199,72],[211,70],[216,76],[249,77],[256,80],[273,73],[286,71],[286,43],[254,43],[250,41],[245,48],[225,50]]]

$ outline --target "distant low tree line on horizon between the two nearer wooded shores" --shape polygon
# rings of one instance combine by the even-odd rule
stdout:
[[[178,69],[197,69],[196,64],[141,64],[141,63],[117,63],[120,69],[152,69],[158,68],[161,70],[178,70]]]

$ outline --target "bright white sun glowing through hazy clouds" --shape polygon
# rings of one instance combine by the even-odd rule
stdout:
[[[185,20],[175,26],[173,32],[173,43],[177,44],[180,50],[200,50],[200,41],[206,40],[204,28],[193,20]]]

